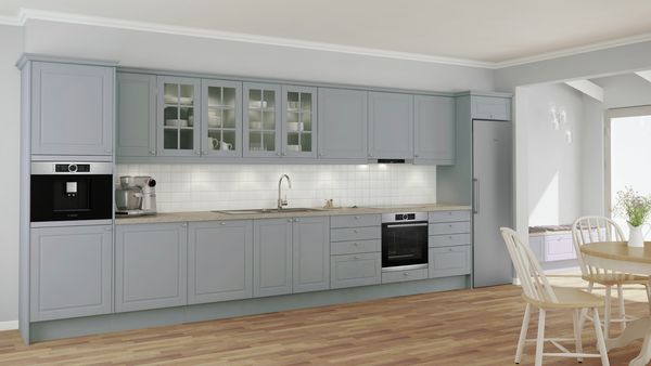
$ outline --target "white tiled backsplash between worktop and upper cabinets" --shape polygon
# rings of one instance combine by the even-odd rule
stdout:
[[[120,175],[152,175],[159,212],[272,208],[278,179],[289,207],[436,202],[436,167],[413,165],[118,165]]]

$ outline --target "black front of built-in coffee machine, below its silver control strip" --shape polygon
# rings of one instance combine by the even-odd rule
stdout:
[[[105,220],[113,215],[113,175],[33,174],[31,222]]]

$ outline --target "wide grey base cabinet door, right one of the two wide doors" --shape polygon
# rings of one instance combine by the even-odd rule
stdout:
[[[253,296],[253,221],[191,222],[188,303]]]

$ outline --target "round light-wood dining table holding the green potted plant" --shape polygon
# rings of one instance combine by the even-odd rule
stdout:
[[[651,241],[644,247],[628,247],[626,241],[599,241],[583,245],[580,251],[589,265],[617,272],[651,276]],[[651,318],[649,316],[627,324],[626,329],[616,338],[607,338],[605,348],[625,347],[636,339],[643,338],[642,349],[629,366],[643,366],[651,361]]]

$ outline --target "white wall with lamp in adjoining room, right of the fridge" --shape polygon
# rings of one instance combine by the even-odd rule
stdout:
[[[583,93],[565,84],[526,88],[526,107],[519,122],[527,125],[528,224],[572,223],[582,213],[580,145]],[[551,107],[564,110],[566,126],[556,130]],[[572,132],[567,143],[565,131]]]

